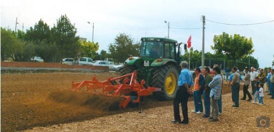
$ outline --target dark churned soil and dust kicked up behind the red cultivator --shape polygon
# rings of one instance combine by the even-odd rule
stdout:
[[[72,105],[88,106],[92,109],[112,111],[119,109],[119,103],[124,100],[118,96],[94,95],[87,92],[74,92],[67,90],[57,90],[49,94],[49,98],[57,102]]]

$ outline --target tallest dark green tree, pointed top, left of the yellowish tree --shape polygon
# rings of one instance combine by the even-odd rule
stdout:
[[[77,29],[66,14],[57,19],[57,24],[54,24],[51,32],[51,39],[57,44],[61,59],[63,56],[74,57],[78,53],[79,36],[76,36]]]

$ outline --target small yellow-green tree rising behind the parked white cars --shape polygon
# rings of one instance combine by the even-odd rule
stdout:
[[[79,40],[80,44],[80,53],[81,56],[88,56],[93,58],[96,55],[96,51],[99,49],[99,43],[91,42],[91,41],[81,41]]]

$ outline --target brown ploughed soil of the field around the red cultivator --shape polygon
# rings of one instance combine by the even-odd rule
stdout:
[[[157,101],[149,96],[139,107],[117,109],[113,108],[116,107],[113,104],[119,98],[98,98],[70,91],[72,80],[77,82],[96,76],[102,81],[118,75],[118,72],[2,73],[1,131],[17,131],[172,104],[172,101]],[[223,93],[227,92],[230,89],[225,88]],[[105,100],[108,101],[103,102]]]

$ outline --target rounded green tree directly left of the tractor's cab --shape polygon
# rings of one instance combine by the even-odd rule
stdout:
[[[120,33],[116,36],[113,43],[108,45],[108,50],[113,59],[123,62],[128,55],[138,56],[140,53],[141,44],[136,42],[133,44],[134,39],[128,34]]]

